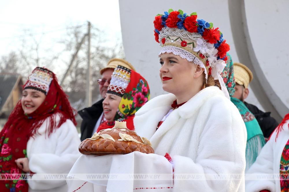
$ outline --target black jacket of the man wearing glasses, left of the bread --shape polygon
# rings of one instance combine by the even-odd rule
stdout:
[[[92,136],[92,131],[97,123],[98,118],[103,112],[102,102],[104,99],[99,100],[91,107],[87,107],[78,111],[78,114],[82,118],[80,132],[81,132],[81,141]]]

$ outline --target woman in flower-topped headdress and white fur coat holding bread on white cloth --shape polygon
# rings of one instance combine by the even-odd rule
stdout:
[[[229,45],[218,28],[197,20],[196,13],[170,9],[155,17],[154,26],[155,40],[161,45],[160,80],[169,94],[144,104],[135,113],[134,127],[139,136],[150,140],[155,154],[82,155],[76,162],[78,169],[71,173],[144,177],[129,177],[131,181],[118,175],[118,180],[86,180],[89,185],[78,187],[83,191],[244,191],[246,128],[220,75]],[[98,165],[94,171],[81,167],[85,159],[93,162],[91,166]]]

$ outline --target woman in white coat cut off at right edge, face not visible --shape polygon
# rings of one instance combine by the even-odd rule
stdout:
[[[289,113],[272,133],[247,174],[246,191],[289,191]],[[258,176],[262,179],[258,180]]]

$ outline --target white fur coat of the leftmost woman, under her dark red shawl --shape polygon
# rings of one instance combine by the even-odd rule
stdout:
[[[29,188],[32,190],[57,189],[66,185],[65,180],[45,180],[37,173],[67,174],[80,156],[78,151],[80,139],[71,120],[67,119],[49,137],[45,134],[46,123],[47,121],[39,128],[39,134],[27,142],[29,168],[36,173],[32,176],[32,180],[28,181]],[[56,189],[52,191],[58,191]]]

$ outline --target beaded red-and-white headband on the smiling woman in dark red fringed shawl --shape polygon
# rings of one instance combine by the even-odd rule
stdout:
[[[51,71],[42,67],[36,67],[32,71],[32,74],[28,76],[23,90],[34,89],[47,95],[52,79],[53,73]]]

